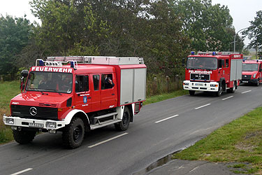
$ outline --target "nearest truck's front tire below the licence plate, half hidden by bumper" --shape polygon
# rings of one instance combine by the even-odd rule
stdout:
[[[13,130],[13,137],[19,144],[29,144],[36,137],[36,132]]]

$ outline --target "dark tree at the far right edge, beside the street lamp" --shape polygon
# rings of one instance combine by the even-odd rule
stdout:
[[[250,43],[247,48],[255,48],[257,50],[262,49],[262,10],[256,12],[256,17],[250,22],[248,27],[242,34],[248,36]]]

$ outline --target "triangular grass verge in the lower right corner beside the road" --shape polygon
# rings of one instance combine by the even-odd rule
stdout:
[[[224,125],[198,141],[173,159],[207,160],[210,162],[248,162],[251,168],[239,173],[262,174],[262,107]],[[243,167],[244,166],[244,167]],[[236,171],[238,172],[238,171]]]

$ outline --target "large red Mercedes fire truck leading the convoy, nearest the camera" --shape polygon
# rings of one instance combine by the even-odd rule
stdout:
[[[77,148],[89,130],[112,124],[127,130],[145,101],[146,66],[139,57],[48,57],[21,74],[22,93],[3,116],[20,144],[38,131],[62,132],[64,145]]]

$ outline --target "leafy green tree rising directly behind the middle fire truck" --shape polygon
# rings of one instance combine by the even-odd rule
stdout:
[[[183,29],[191,38],[192,50],[228,50],[235,34],[226,6],[212,6],[211,0],[175,1],[173,6],[175,13],[182,16]]]

